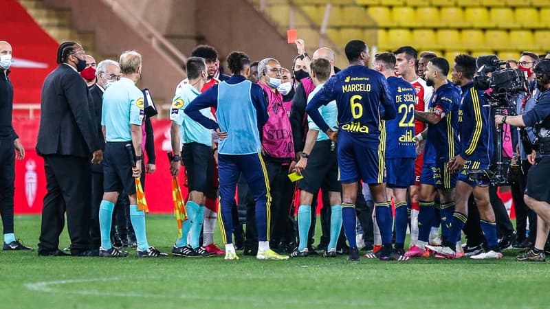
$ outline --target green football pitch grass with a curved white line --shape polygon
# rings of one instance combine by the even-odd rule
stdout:
[[[173,216],[148,215],[149,243],[169,252]],[[547,263],[503,260],[348,262],[214,258],[39,257],[39,216],[16,216],[33,251],[0,253],[0,308],[547,308]],[[219,233],[217,233],[219,236]],[[317,237],[318,239],[318,237]],[[217,240],[219,243],[219,238]],[[67,233],[60,248],[69,244]]]

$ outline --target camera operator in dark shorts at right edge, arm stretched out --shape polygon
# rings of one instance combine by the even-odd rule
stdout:
[[[531,152],[529,161],[533,166],[527,175],[525,203],[538,215],[535,247],[517,257],[518,261],[544,262],[544,244],[550,227],[550,186],[545,178],[550,172],[550,60],[538,62],[533,70],[538,89],[542,92],[531,111],[525,115],[495,115],[495,124],[510,124],[518,127],[533,127],[536,133],[536,150]],[[534,159],[536,152],[540,159]]]

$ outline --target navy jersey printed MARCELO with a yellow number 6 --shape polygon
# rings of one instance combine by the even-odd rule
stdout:
[[[316,93],[307,106],[307,112],[336,100],[340,135],[350,135],[355,141],[370,149],[385,145],[385,128],[382,119],[395,117],[395,106],[386,78],[377,71],[361,65],[347,67],[332,76]],[[381,114],[381,109],[384,114]],[[318,119],[311,119],[323,127]],[[319,119],[322,120],[322,119]]]

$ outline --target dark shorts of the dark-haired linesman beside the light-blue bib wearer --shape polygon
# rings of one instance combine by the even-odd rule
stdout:
[[[216,188],[212,185],[214,156],[212,148],[199,143],[187,143],[181,148],[181,161],[187,173],[189,192],[198,191],[215,198]]]

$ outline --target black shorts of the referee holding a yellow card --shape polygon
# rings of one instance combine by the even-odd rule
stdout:
[[[330,192],[342,192],[342,185],[338,181],[338,159],[336,151],[331,151],[331,141],[317,141],[307,165],[298,182],[298,189],[316,194],[322,187]]]

